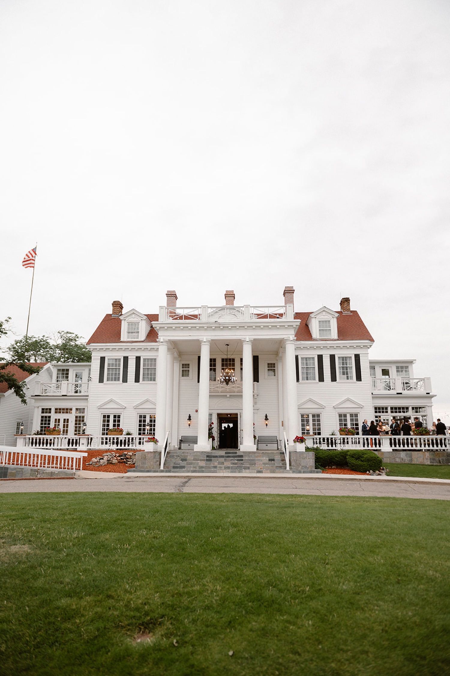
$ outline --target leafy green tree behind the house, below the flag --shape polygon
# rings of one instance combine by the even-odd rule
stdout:
[[[81,336],[72,331],[58,331],[51,343],[48,336],[20,338],[8,347],[12,360],[34,362],[90,362],[91,350],[82,342]]]

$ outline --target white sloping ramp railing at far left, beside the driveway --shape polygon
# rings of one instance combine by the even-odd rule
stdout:
[[[80,470],[87,453],[0,447],[0,465],[36,469]]]

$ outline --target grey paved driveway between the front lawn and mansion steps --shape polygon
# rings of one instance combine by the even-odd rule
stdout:
[[[80,472],[76,479],[1,480],[0,493],[279,493],[450,500],[450,481],[403,477],[125,475]]]

